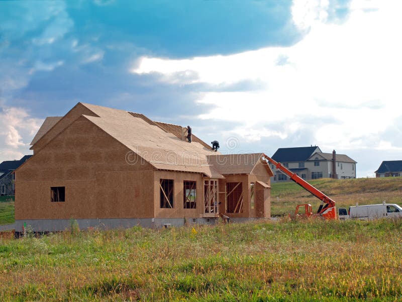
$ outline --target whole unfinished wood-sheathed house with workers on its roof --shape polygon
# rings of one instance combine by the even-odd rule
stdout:
[[[78,103],[48,118],[16,172],[15,226],[59,231],[163,227],[270,217],[272,170],[261,154],[223,155],[186,129]]]

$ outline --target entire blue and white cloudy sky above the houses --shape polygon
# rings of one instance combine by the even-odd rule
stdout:
[[[0,1],[0,162],[78,102],[191,125],[222,153],[402,160],[402,2]]]

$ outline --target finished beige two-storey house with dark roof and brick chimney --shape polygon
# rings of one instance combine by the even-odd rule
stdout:
[[[279,148],[272,159],[280,162],[303,179],[356,178],[356,161],[345,154],[324,153],[317,146]],[[270,165],[274,176],[272,182],[289,181],[289,177]]]

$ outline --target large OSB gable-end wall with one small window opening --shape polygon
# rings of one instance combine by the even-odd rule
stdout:
[[[152,217],[154,167],[127,152],[79,118],[16,171],[16,219]],[[65,186],[66,202],[50,202],[51,186]]]

